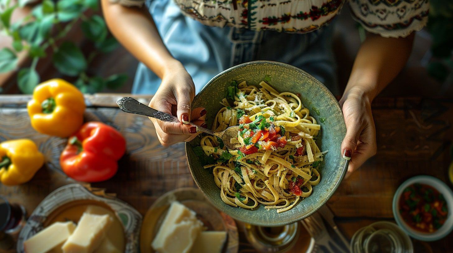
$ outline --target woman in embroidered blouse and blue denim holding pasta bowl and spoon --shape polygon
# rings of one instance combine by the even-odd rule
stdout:
[[[180,123],[153,120],[162,145],[194,138],[204,108],[190,107],[214,75],[254,60],[299,67],[338,93],[332,25],[345,0],[102,0],[107,25],[140,62],[134,93]],[[144,5],[145,4],[145,5]],[[371,101],[400,72],[414,31],[427,22],[428,0],[351,0],[352,16],[369,32],[340,100],[347,133],[339,150],[347,176],[376,154]],[[151,15],[149,15],[151,14]],[[214,113],[214,112],[212,112]]]

